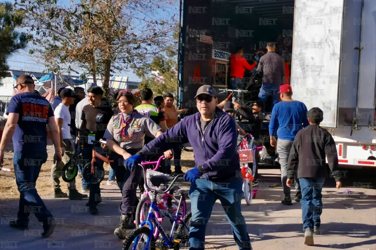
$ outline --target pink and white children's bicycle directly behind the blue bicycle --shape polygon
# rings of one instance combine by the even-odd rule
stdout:
[[[165,191],[168,188],[167,183],[169,181],[172,181],[174,179],[174,176],[172,175],[167,175],[161,172],[157,172],[159,165],[161,164],[161,161],[164,159],[163,156],[159,157],[158,161],[150,161],[150,162],[141,162],[141,165],[143,166],[150,166],[150,165],[155,165],[156,167],[152,169],[147,169],[146,170],[146,181],[147,183],[144,183],[144,186],[146,184],[149,187],[155,188],[156,190],[160,191]],[[159,181],[161,182],[161,185],[158,187],[153,186],[152,180]],[[163,186],[162,186],[163,185]],[[157,194],[157,206],[165,211],[170,212],[171,214],[176,214],[177,208],[179,207],[179,202],[180,202],[180,195],[178,194],[180,188],[177,186],[173,186],[170,190],[169,193],[165,194]],[[136,208],[136,220],[134,223],[136,226],[139,226],[142,221],[146,220],[147,215],[149,213],[150,209],[150,204],[151,201],[153,200],[154,197],[152,197],[154,194],[150,191],[147,190],[145,187],[145,191],[143,194],[141,194],[141,200],[139,201],[137,208]],[[164,217],[161,216],[158,212],[154,212],[158,222],[162,222]],[[182,201],[182,205],[180,206],[179,209],[179,217],[181,220],[183,220],[184,216],[186,215],[186,204],[185,200]],[[170,220],[171,224],[174,223],[173,220]],[[176,223],[176,227],[179,226],[178,223]],[[154,227],[154,238],[158,239],[159,236],[159,230],[158,227]]]

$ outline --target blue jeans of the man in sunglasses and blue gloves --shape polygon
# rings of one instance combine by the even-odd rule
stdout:
[[[190,250],[205,249],[206,225],[217,199],[220,200],[224,208],[238,248],[240,250],[251,249],[246,221],[241,214],[242,187],[243,181],[241,179],[227,182],[211,182],[206,179],[197,179],[192,182],[189,191],[192,211],[189,233]]]

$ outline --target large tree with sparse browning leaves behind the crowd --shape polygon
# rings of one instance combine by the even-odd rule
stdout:
[[[105,96],[115,72],[149,63],[170,45],[175,15],[168,6],[176,0],[72,0],[69,6],[57,0],[18,0],[34,32],[37,54],[50,71],[70,72],[81,67],[102,78]],[[158,15],[163,10],[167,15]]]

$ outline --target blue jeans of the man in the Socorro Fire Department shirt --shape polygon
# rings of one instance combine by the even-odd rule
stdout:
[[[46,161],[47,151],[14,153],[13,155],[16,184],[20,191],[17,214],[20,224],[27,225],[29,223],[30,212],[34,213],[39,222],[47,221],[49,217],[52,217],[35,188],[41,166]]]

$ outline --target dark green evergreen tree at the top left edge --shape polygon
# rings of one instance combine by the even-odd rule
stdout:
[[[6,77],[9,70],[6,59],[17,50],[26,48],[29,41],[28,35],[17,31],[22,22],[20,10],[14,9],[9,2],[0,3],[0,80]]]

